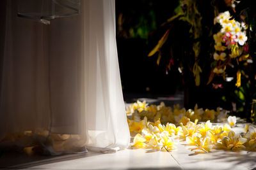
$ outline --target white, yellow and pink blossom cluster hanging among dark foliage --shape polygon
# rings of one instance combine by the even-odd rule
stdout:
[[[231,59],[238,59],[237,62],[248,59],[246,26],[234,19],[230,20],[228,11],[220,13],[214,21],[221,25],[221,30],[213,36],[216,50],[213,55],[213,73],[224,74]],[[240,71],[237,72],[237,75],[237,78],[241,76]],[[240,83],[237,82],[237,86],[240,86]]]

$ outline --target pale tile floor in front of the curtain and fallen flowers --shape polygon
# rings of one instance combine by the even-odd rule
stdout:
[[[237,127],[235,131],[242,129]],[[189,147],[180,142],[177,150],[171,153],[127,149],[116,153],[89,152],[60,157],[4,153],[0,157],[0,169],[256,169],[256,152],[213,150],[195,154]]]

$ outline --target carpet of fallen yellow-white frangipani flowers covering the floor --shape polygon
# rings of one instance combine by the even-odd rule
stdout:
[[[152,108],[155,109],[152,110]],[[177,122],[173,122],[174,124],[170,122],[161,123],[163,118],[166,117],[166,110],[170,111],[170,115],[175,114],[181,117],[180,125],[175,125]],[[195,113],[197,111],[200,113]],[[194,112],[194,114],[204,117],[205,111],[198,109],[196,106],[195,110],[190,110],[188,113]],[[213,113],[215,116],[218,111]],[[162,114],[164,117],[162,117]],[[142,120],[141,115],[144,116]],[[148,117],[155,120],[154,123],[148,121]],[[137,103],[127,108],[127,120],[131,133],[136,133],[132,148],[171,151],[177,145],[175,141],[181,140],[186,141],[188,145],[195,146],[191,150],[200,150],[205,153],[210,152],[211,149],[256,151],[256,129],[251,125],[246,125],[243,136],[232,131],[232,127],[236,125],[236,117],[229,116],[227,118],[228,124],[225,125],[212,125],[210,120],[198,124],[197,118],[194,122],[191,122],[186,117],[186,113],[184,115],[184,109],[179,110],[178,106],[175,106],[172,110],[172,108],[164,106],[163,103],[159,106],[148,106],[145,102],[137,101]]]

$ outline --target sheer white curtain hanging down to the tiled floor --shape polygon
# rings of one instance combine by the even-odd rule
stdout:
[[[59,151],[70,145],[102,150],[129,145],[115,1],[81,1],[79,15],[44,25],[17,17],[17,1],[10,0],[4,26],[0,149],[10,141],[17,145],[26,136],[24,131],[29,135],[20,146],[49,136]],[[15,132],[22,132],[21,137]],[[56,134],[60,145],[54,143]],[[79,134],[79,138],[64,140],[61,134]]]

